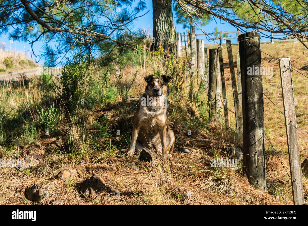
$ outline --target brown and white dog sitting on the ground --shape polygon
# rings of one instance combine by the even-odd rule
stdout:
[[[175,141],[173,131],[167,128],[168,82],[171,77],[148,75],[144,80],[148,85],[134,116],[132,142],[127,155],[149,148],[161,152],[163,159],[168,159]]]

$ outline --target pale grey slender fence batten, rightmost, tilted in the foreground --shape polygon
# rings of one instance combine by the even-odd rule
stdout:
[[[279,68],[289,151],[293,203],[294,205],[302,205],[305,204],[305,197],[303,190],[301,159],[298,148],[290,58],[279,58]]]

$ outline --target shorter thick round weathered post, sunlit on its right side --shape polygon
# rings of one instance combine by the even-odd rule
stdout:
[[[210,103],[209,122],[220,122],[220,68],[218,49],[209,50],[209,92],[208,100]]]

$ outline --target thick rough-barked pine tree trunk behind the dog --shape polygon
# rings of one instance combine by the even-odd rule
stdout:
[[[166,53],[175,54],[176,30],[173,25],[171,0],[153,1],[153,41],[152,49],[162,46]]]

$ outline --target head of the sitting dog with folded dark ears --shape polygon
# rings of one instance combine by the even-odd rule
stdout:
[[[145,87],[145,92],[151,97],[168,96],[168,82],[171,77],[162,75],[161,77],[155,77],[153,74],[144,77],[144,80],[148,83]]]

